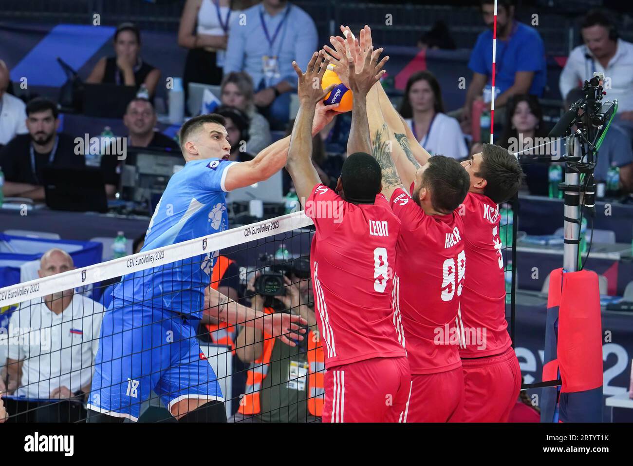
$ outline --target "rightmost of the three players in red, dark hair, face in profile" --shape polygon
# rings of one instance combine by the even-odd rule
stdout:
[[[470,176],[458,209],[468,257],[459,316],[463,420],[506,422],[520,391],[521,370],[507,330],[498,204],[515,196],[523,173],[514,155],[492,144],[461,164]]]

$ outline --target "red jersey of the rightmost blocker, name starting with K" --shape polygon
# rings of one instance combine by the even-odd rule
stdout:
[[[491,198],[468,193],[460,205],[468,273],[459,316],[462,358],[503,353],[511,346],[506,322],[506,282],[499,238],[499,206]]]

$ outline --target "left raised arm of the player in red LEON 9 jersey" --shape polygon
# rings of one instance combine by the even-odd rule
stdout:
[[[329,60],[323,51],[315,52],[312,55],[305,73],[301,71],[296,61],[292,62],[292,67],[299,77],[297,84],[299,112],[294,119],[285,168],[292,178],[292,183],[294,183],[294,188],[302,205],[310,197],[314,187],[321,182],[312,164],[310,124],[315,114],[316,103],[322,101],[323,97],[334,87],[330,86],[325,91],[321,87],[321,80],[328,62]]]

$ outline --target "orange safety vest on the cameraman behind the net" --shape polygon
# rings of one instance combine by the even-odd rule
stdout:
[[[266,307],[266,314],[273,313],[273,309]],[[240,400],[239,412],[244,415],[259,414],[261,412],[261,382],[266,378],[270,366],[270,356],[273,353],[275,339],[264,332],[264,348],[259,359],[256,359],[246,376],[246,393]],[[321,417],[325,402],[325,388],[323,373],[325,372],[325,356],[323,346],[316,332],[308,333],[308,411],[311,415]]]

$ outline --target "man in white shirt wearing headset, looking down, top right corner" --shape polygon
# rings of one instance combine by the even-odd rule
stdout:
[[[591,10],[584,16],[580,34],[584,45],[572,50],[560,74],[561,96],[582,87],[594,72],[603,72],[608,79],[606,98],[618,100],[615,121],[633,129],[633,44],[618,37],[615,23],[600,10]]]

